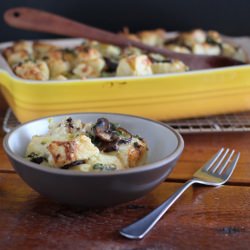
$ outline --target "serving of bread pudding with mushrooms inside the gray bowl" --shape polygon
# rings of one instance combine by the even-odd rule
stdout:
[[[143,138],[106,118],[83,123],[67,117],[50,120],[47,134],[33,136],[25,157],[53,168],[113,171],[143,165],[147,151]]]

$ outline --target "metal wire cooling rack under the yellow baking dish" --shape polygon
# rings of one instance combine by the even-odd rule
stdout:
[[[250,112],[172,120],[166,121],[165,123],[181,134],[245,132],[250,131]],[[3,121],[3,130],[8,133],[18,124],[19,122],[11,109],[8,109]]]

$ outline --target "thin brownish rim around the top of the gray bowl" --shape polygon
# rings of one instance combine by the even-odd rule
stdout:
[[[101,115],[114,115],[114,116],[124,116],[124,117],[132,117],[132,118],[136,118],[136,119],[140,119],[140,120],[145,120],[148,122],[152,122],[155,124],[158,124],[160,126],[165,127],[166,129],[170,130],[171,132],[174,133],[175,137],[177,138],[177,147],[175,148],[175,150],[168,155],[167,157],[163,158],[162,160],[153,162],[153,163],[146,163],[144,165],[141,166],[137,166],[134,168],[128,168],[128,169],[122,169],[122,170],[115,170],[112,172],[82,172],[82,171],[75,171],[75,170],[70,170],[70,169],[57,169],[57,168],[50,168],[50,167],[46,167],[46,166],[42,166],[30,161],[25,160],[25,158],[16,155],[15,153],[13,153],[13,151],[10,149],[9,147],[9,138],[12,136],[12,134],[15,133],[16,130],[18,130],[20,127],[23,127],[27,124],[33,123],[33,122],[37,122],[37,121],[41,121],[41,120],[46,120],[48,118],[56,118],[56,117],[65,117],[65,116],[72,116],[72,115],[97,115],[100,114]],[[16,128],[14,128],[11,132],[9,132],[8,134],[5,135],[4,139],[3,139],[3,147],[5,152],[7,153],[7,155],[13,159],[15,159],[17,162],[26,165],[27,167],[33,168],[33,169],[37,169],[40,171],[44,171],[44,172],[49,172],[51,174],[59,174],[59,175],[71,175],[71,176],[91,176],[91,177],[100,177],[100,176],[110,176],[110,175],[122,175],[122,174],[132,174],[132,173],[138,173],[138,172],[144,172],[144,171],[149,171],[155,168],[160,168],[164,165],[166,165],[167,163],[171,162],[172,160],[176,159],[178,156],[181,155],[183,149],[184,149],[184,140],[182,138],[182,136],[175,131],[173,128],[171,128],[169,125],[160,122],[160,121],[154,121],[152,119],[149,118],[145,118],[145,117],[140,117],[140,116],[136,116],[136,115],[129,115],[129,114],[122,114],[122,113],[109,113],[109,112],[77,112],[77,113],[67,113],[67,114],[60,114],[60,115],[53,115],[53,116],[46,116],[43,118],[39,118],[39,119],[34,119],[28,122],[25,122],[23,124],[18,125]]]

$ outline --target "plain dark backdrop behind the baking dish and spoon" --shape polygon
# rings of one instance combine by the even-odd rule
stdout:
[[[158,27],[203,28],[227,35],[250,35],[249,0],[0,0],[0,42],[56,37],[8,27],[3,13],[17,6],[48,10],[111,31],[124,26],[132,32]]]

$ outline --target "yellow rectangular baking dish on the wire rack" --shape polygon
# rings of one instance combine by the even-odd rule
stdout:
[[[0,50],[10,45],[2,43]],[[31,81],[16,77],[0,56],[0,87],[20,122],[87,111],[169,120],[250,110],[250,65],[147,77]]]

